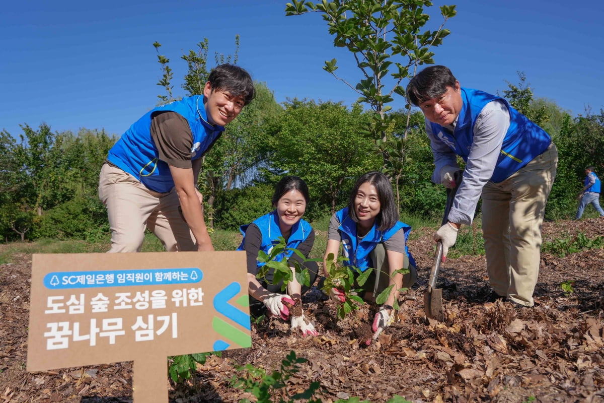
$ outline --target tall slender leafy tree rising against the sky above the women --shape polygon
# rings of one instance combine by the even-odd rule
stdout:
[[[457,13],[454,5],[441,6],[443,23],[436,30],[422,32],[430,18],[423,7],[431,5],[429,0],[294,0],[286,4],[286,16],[321,13],[334,36],[333,45],[352,53],[362,76],[356,85],[336,76],[336,59],[326,61],[323,69],[356,91],[358,102],[367,103],[374,112],[364,132],[376,142],[386,172],[400,170],[390,162],[391,153],[400,159],[404,152],[403,144],[388,142],[388,103],[393,102],[394,94],[405,97],[400,85],[403,79],[414,76],[418,66],[434,63],[431,49],[442,44],[449,34],[443,26]],[[403,132],[403,138],[405,135]]]

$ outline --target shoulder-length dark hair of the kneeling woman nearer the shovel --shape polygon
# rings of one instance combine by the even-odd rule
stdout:
[[[359,187],[365,182],[374,185],[377,192],[377,199],[380,204],[380,212],[377,214],[376,224],[380,231],[390,230],[399,221],[399,209],[394,202],[394,193],[392,192],[392,184],[386,175],[381,172],[371,171],[364,173],[359,179],[356,179],[355,187],[350,192],[348,201],[348,214],[354,222],[359,222],[356,216],[355,199],[356,193],[359,192]]]

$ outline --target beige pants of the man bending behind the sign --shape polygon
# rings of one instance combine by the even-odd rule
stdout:
[[[178,212],[178,195],[153,192],[123,170],[103,164],[98,197],[107,207],[112,252],[140,252],[145,228],[167,251],[196,251],[193,233]]]

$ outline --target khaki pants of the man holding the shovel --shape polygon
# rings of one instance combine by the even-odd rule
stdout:
[[[541,259],[545,203],[556,178],[558,152],[550,147],[518,172],[483,188],[483,234],[487,274],[493,290],[533,306]]]

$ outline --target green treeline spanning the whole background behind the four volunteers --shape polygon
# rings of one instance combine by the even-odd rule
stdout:
[[[297,175],[309,184],[312,221],[343,207],[359,175],[382,170],[378,144],[363,134],[371,117],[361,106],[298,99],[281,106],[266,85],[257,88],[257,98],[203,163],[199,184],[212,227],[236,230],[271,210],[272,185],[281,175]],[[604,111],[573,118],[552,102],[533,100],[522,86],[509,85],[504,97],[556,143],[560,161],[545,215],[567,218],[576,211],[585,167],[604,173]],[[400,210],[435,218],[442,214],[445,192],[430,181],[434,165],[423,115],[414,112],[409,120],[406,111],[391,115],[387,136],[399,141],[400,164],[387,174]],[[117,137],[102,130],[52,132],[47,124],[21,127],[20,134],[0,132],[2,240],[106,237],[98,173]]]

